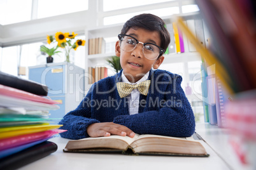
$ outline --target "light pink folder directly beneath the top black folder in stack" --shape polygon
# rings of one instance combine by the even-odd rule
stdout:
[[[0,84],[0,95],[10,96],[10,97],[15,97],[15,98],[21,98],[21,99],[24,99],[24,100],[37,101],[37,102],[41,102],[41,103],[60,104],[57,101],[50,100],[48,98],[43,98],[41,96],[34,95],[34,94],[29,93],[27,91],[22,91],[20,89],[15,89],[15,88],[11,88],[11,87],[8,87],[8,86],[3,86],[2,84]]]

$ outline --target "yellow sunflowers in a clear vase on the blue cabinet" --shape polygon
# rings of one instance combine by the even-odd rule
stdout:
[[[63,48],[65,50],[65,55],[66,55],[66,62],[70,62],[69,60],[69,53],[71,49],[76,50],[78,46],[84,46],[85,45],[85,40],[78,39],[75,41],[75,37],[78,34],[75,34],[72,32],[72,34],[69,34],[68,32],[62,33],[62,32],[57,32],[55,36],[47,36],[47,42],[48,44],[52,42],[58,42],[57,47]],[[56,47],[56,48],[57,48]]]

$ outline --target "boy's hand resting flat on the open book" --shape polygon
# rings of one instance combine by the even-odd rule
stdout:
[[[113,122],[90,124],[87,127],[87,133],[90,137],[110,136],[111,134],[129,136],[131,138],[135,136],[135,133],[132,132],[131,129]]]

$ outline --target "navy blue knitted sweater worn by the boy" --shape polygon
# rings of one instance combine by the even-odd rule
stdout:
[[[87,127],[97,122],[121,124],[138,134],[187,137],[195,131],[195,118],[181,88],[182,78],[165,70],[150,70],[147,96],[139,96],[138,114],[129,115],[127,98],[120,98],[116,83],[122,70],[94,83],[78,107],[64,116],[59,124],[63,138],[87,138]]]

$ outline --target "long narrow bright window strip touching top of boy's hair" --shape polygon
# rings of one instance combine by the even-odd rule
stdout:
[[[157,15],[159,17],[162,16],[168,16],[168,15],[173,15],[173,14],[178,14],[180,13],[179,7],[174,6],[174,7],[169,7],[169,8],[161,8],[157,10],[150,10],[150,11],[141,11],[137,13],[127,13],[123,15],[115,15],[115,16],[108,16],[104,18],[104,25],[111,25],[115,23],[124,23],[132,16],[139,15],[141,13],[152,13],[154,15]]]

